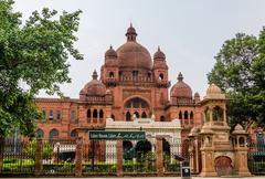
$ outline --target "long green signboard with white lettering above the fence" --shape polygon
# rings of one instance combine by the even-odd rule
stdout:
[[[124,140],[145,140],[145,131],[105,131],[105,130],[91,130],[89,139],[97,140],[117,140],[123,138]]]

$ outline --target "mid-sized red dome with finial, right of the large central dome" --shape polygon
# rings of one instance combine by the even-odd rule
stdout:
[[[191,87],[183,82],[183,76],[181,73],[179,73],[178,82],[170,91],[170,96],[177,98],[192,98]]]

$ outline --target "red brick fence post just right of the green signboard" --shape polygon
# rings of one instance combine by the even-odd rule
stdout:
[[[157,151],[157,172],[158,176],[163,176],[163,156],[162,156],[162,138],[157,137],[156,151]]]

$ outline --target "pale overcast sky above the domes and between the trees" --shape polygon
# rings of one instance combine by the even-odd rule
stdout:
[[[201,96],[224,41],[239,32],[258,35],[265,25],[264,0],[15,0],[13,8],[25,20],[44,7],[83,11],[75,46],[84,61],[68,59],[72,83],[61,85],[64,95],[73,98],[92,80],[94,70],[99,73],[109,45],[117,50],[126,42],[130,22],[137,42],[151,56],[158,45],[165,52],[171,86],[181,72],[192,93]],[[43,92],[39,96],[47,97]]]

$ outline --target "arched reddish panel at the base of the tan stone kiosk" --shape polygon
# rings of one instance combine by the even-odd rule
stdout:
[[[232,175],[232,160],[230,157],[220,156],[214,160],[215,171],[218,176],[230,176]]]

